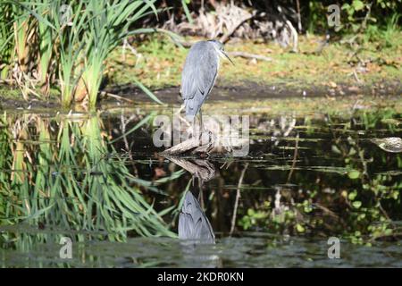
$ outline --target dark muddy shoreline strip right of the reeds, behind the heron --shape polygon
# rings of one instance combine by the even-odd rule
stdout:
[[[106,88],[107,92],[120,97],[129,98],[137,102],[150,101],[149,97],[134,84]],[[156,97],[166,104],[180,104],[180,87],[169,87],[154,90]],[[383,80],[373,85],[306,85],[303,83],[275,83],[260,84],[252,81],[242,81],[238,84],[218,82],[213,88],[208,101],[228,100],[241,101],[266,98],[292,98],[292,97],[343,97],[343,96],[400,96],[402,94],[402,82],[400,80]],[[110,100],[110,99],[109,99]]]

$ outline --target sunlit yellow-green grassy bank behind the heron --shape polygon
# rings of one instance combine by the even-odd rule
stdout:
[[[201,38],[188,38],[189,41]],[[402,39],[402,33],[395,35],[393,41]],[[289,53],[275,43],[257,43],[243,41],[226,45],[228,52],[242,51],[272,58],[272,62],[251,61],[234,58],[235,65],[222,61],[218,85],[241,84],[244,80],[262,84],[275,85],[287,83],[295,86],[326,86],[330,81],[336,83],[357,84],[353,76],[356,64],[350,64],[349,58],[353,51],[347,44],[331,43],[323,48],[320,55],[314,52],[321,45],[322,37],[314,35],[299,38],[299,53]],[[367,60],[366,70],[358,72],[363,82],[370,84],[385,78],[398,80],[402,77],[401,46],[388,46],[383,50],[375,49],[376,43],[363,46],[360,57]],[[161,38],[149,38],[135,46],[139,56],[129,50],[122,54],[121,48],[112,53],[108,63],[108,76],[113,84],[130,83],[132,76],[138,77],[148,87],[163,88],[179,86],[181,69],[188,50],[164,42]],[[356,60],[356,59],[355,59]],[[247,71],[247,72],[245,72]]]

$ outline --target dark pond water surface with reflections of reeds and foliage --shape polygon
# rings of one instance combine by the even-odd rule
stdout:
[[[402,157],[378,141],[401,137],[396,110],[250,112],[247,156],[180,160],[158,155],[157,114],[172,116],[152,105],[4,113],[0,265],[401,266]],[[178,239],[186,191],[214,244]]]

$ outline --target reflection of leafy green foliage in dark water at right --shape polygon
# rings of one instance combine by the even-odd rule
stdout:
[[[248,207],[239,225],[245,230],[263,227],[281,233],[336,233],[359,243],[399,236],[400,229],[393,221],[401,219],[402,183],[400,172],[389,170],[401,170],[402,160],[366,138],[398,132],[398,116],[389,109],[356,113],[346,123],[328,116],[329,124],[323,128],[329,130],[331,144],[328,139],[322,144],[317,141],[314,154],[305,156],[302,152],[307,151],[299,150],[298,167],[314,172],[294,171],[293,181],[299,189],[278,188],[275,196]],[[297,124],[306,129],[311,140],[316,136],[313,122]],[[300,138],[301,147],[305,141]],[[313,162],[317,166],[311,165]],[[278,177],[277,170],[288,170],[283,167],[268,167],[268,176]]]

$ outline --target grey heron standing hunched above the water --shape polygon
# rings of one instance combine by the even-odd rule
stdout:
[[[204,130],[201,106],[214,87],[219,69],[220,57],[225,56],[234,64],[217,40],[200,41],[191,46],[181,73],[181,97],[186,109],[186,117],[195,126],[199,112],[201,129]]]

